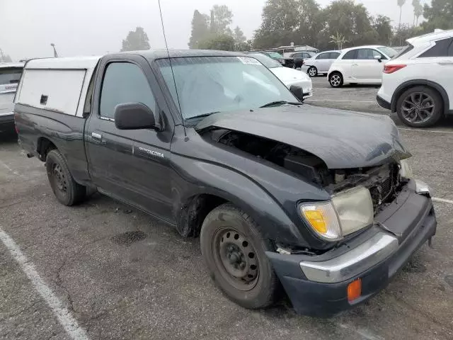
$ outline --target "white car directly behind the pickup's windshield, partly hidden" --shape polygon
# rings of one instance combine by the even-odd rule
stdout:
[[[313,96],[313,83],[311,82],[310,77],[304,72],[283,67],[280,62],[277,62],[262,53],[251,52],[248,53],[248,55],[254,57],[265,67],[268,67],[268,69],[270,69],[270,71],[275,74],[288,89],[290,89],[292,85],[300,86],[303,90],[303,99]]]

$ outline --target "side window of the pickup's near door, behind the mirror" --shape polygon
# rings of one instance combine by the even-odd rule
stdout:
[[[113,62],[105,70],[99,112],[102,117],[115,118],[120,103],[144,103],[156,112],[156,100],[142,69],[130,62]]]

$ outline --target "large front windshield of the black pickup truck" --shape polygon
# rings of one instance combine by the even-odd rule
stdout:
[[[296,101],[263,64],[250,57],[172,58],[178,97],[168,59],[157,60],[183,118],[259,108],[273,101]]]

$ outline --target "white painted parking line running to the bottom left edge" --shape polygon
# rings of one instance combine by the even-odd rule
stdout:
[[[11,237],[0,227],[0,240],[8,248],[13,258],[19,263],[23,272],[28,276],[33,287],[41,295],[42,299],[45,300],[49,305],[52,312],[57,317],[59,323],[62,325],[64,330],[73,340],[88,340],[86,331],[79,326],[76,319],[72,317],[71,312],[64,307],[62,302],[58,300],[58,297],[52,292],[52,290],[45,284],[44,280],[40,277],[35,269],[33,263],[28,261],[21,249],[18,247]]]

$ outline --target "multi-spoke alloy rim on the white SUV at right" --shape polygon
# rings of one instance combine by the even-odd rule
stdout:
[[[401,104],[403,118],[413,124],[425,123],[435,113],[435,101],[425,92],[414,92]]]

